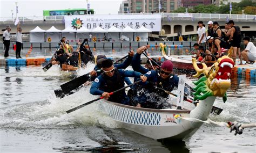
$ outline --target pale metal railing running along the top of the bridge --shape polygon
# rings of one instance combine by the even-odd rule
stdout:
[[[152,14],[152,13],[129,13],[129,14],[119,14],[119,15],[138,15],[138,14]],[[256,15],[248,14],[212,14],[212,13],[154,13],[161,14],[162,19],[234,19],[234,20],[250,20],[256,21]],[[87,14],[86,16],[94,16],[94,14]],[[64,16],[33,16],[33,17],[19,17],[20,21],[57,21],[63,20]],[[2,17],[0,21],[2,22],[14,22],[16,18]]]

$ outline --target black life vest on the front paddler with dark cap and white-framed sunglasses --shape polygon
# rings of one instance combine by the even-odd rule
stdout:
[[[103,89],[100,90],[110,93],[124,87],[124,76],[120,74],[118,69],[114,69],[114,75],[112,77],[107,76],[105,73],[101,75],[104,78],[104,85],[102,86]],[[121,103],[124,96],[123,94],[125,94],[125,90],[114,93],[110,96],[109,101]]]

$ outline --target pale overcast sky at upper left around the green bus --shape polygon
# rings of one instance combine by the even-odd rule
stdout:
[[[117,14],[123,0],[88,0],[96,14]],[[87,9],[86,0],[0,0],[0,17],[16,17],[18,2],[19,17],[43,16],[43,10]]]

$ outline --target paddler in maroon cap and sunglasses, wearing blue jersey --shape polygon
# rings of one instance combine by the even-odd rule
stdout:
[[[164,90],[171,92],[174,88],[178,88],[179,84],[179,77],[173,75],[173,64],[171,61],[164,61],[160,70],[148,71],[140,79],[147,82],[142,84],[144,85],[143,88],[140,86],[138,90],[136,89],[137,86],[134,86],[129,91],[128,94],[132,105],[156,109],[171,108],[171,104],[166,101],[169,98],[169,94]],[[185,94],[190,94],[190,89],[185,87]]]

